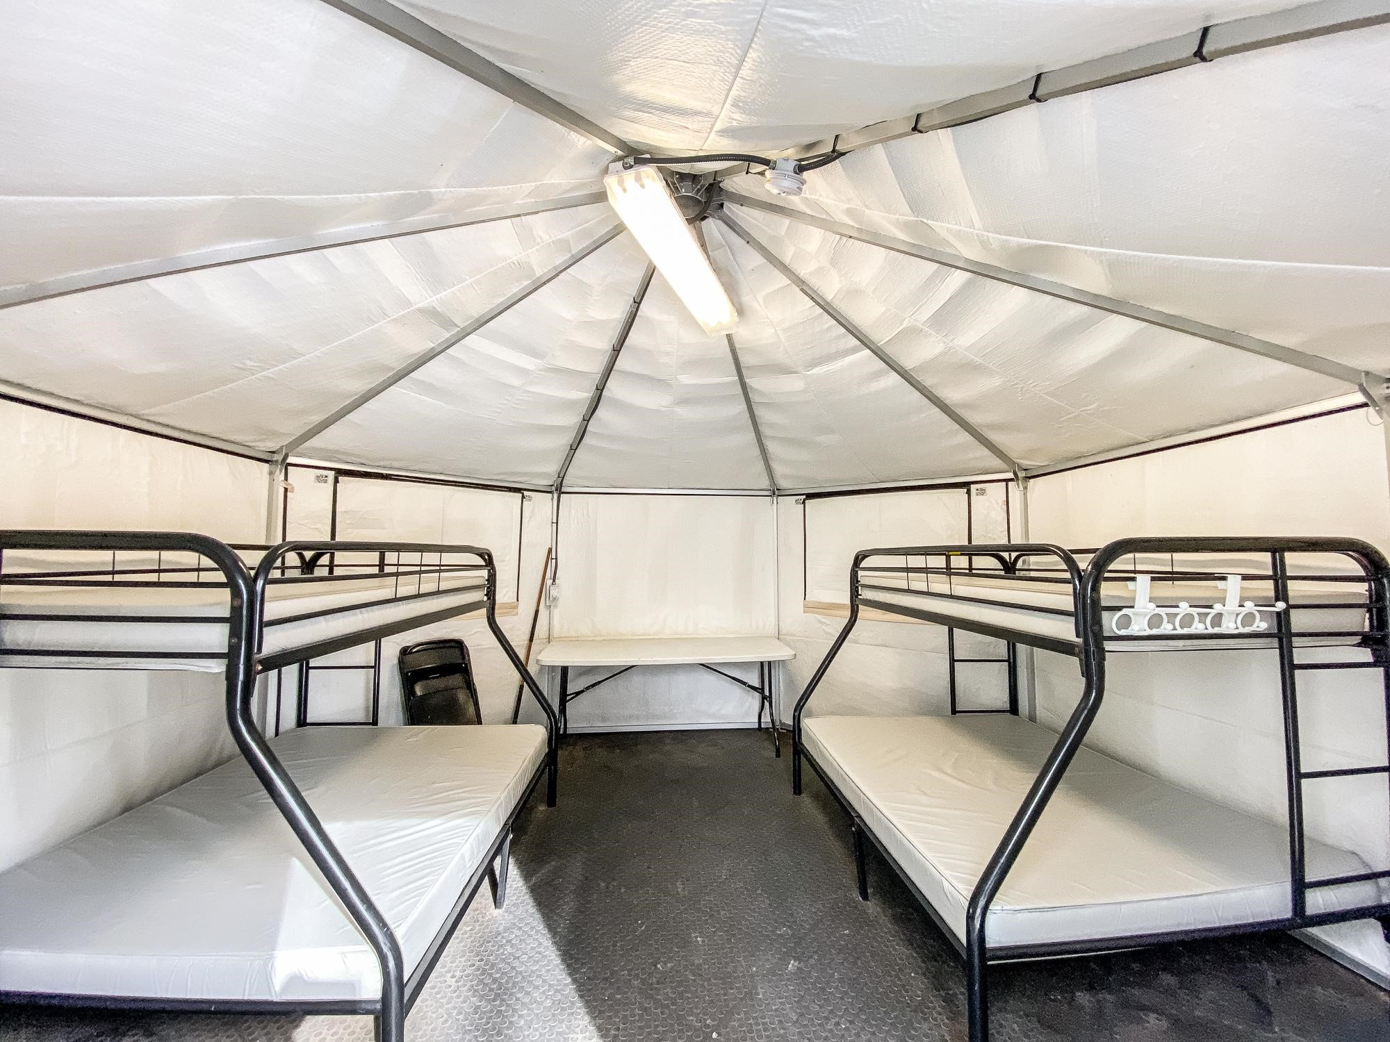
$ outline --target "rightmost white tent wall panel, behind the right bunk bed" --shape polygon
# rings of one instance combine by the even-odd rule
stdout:
[[[1130,535],[1348,535],[1390,550],[1387,447],[1375,420],[1351,408],[1038,478],[1029,488],[1030,536],[1099,546]],[[1379,677],[1302,674],[1298,690],[1309,770],[1384,763]],[[1038,722],[1061,728],[1079,693],[1074,661],[1036,654]],[[1105,703],[1087,741],[1250,813],[1286,817],[1272,653],[1111,656]],[[1390,864],[1383,778],[1315,781],[1304,793],[1309,835]],[[1390,982],[1390,949],[1375,924],[1316,934]]]

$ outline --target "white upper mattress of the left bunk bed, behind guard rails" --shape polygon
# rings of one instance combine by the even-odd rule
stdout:
[[[421,585],[423,584],[423,585]],[[484,579],[474,572],[439,577],[370,577],[335,582],[274,584],[265,599],[265,620],[292,618],[329,609],[335,611],[279,625],[265,627],[263,652],[282,652],[318,640],[385,625],[413,615],[466,606],[484,599]],[[436,593],[432,593],[438,588]],[[371,602],[398,596],[382,604]],[[218,653],[227,652],[227,588],[133,589],[0,585],[0,657],[4,667],[199,670],[220,672],[221,659],[142,657],[140,652]],[[7,613],[63,613],[72,615],[120,615],[121,621],[17,620]],[[206,618],[200,622],[142,622],[140,617],[178,615]],[[115,652],[117,657],[13,654],[29,647]]]

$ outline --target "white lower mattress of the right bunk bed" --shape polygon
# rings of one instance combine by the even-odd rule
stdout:
[[[813,717],[806,749],[963,942],[984,866],[1056,735],[1019,717]],[[1309,878],[1366,871],[1312,839]],[[1380,900],[1314,889],[1309,911]],[[1218,927],[1290,914],[1283,825],[1081,749],[990,906],[991,946]]]

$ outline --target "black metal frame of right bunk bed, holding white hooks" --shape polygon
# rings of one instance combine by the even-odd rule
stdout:
[[[1284,757],[1286,757],[1286,778],[1287,778],[1287,807],[1289,807],[1289,867],[1290,867],[1290,914],[1282,918],[1262,920],[1255,923],[1240,923],[1222,927],[1202,927],[1190,929],[1172,929],[1161,932],[1148,934],[1129,934],[1129,935],[1115,935],[1108,938],[1087,938],[1087,939],[1058,939],[1045,943],[1030,943],[1030,945],[999,945],[991,946],[986,936],[986,920],[990,910],[990,904],[998,895],[999,888],[1004,885],[1009,870],[1013,867],[1037,825],[1038,820],[1045,810],[1048,800],[1052,793],[1061,785],[1072,759],[1076,756],[1077,749],[1081,746],[1087,731],[1090,729],[1095,714],[1099,711],[1101,700],[1105,695],[1105,652],[1106,645],[1119,645],[1125,642],[1148,642],[1144,645],[1144,650],[1166,650],[1163,647],[1163,639],[1168,635],[1154,635],[1154,634],[1137,634],[1137,635],[1106,635],[1104,631],[1104,615],[1106,606],[1102,600],[1102,590],[1106,582],[1113,582],[1123,579],[1129,575],[1138,574],[1144,571],[1145,574],[1152,574],[1154,570],[1141,570],[1138,567],[1138,554],[1168,554],[1176,557],[1179,554],[1259,554],[1261,557],[1268,556],[1269,572],[1259,574],[1254,578],[1266,581],[1273,596],[1277,600],[1284,602],[1290,606],[1289,611],[1279,613],[1276,615],[1277,622],[1272,627],[1270,632],[1261,638],[1265,642],[1273,645],[1279,654],[1279,678],[1280,678],[1280,693],[1283,699],[1283,717],[1284,717]],[[1083,568],[1077,561],[1077,554],[1090,554],[1090,561]],[[1294,575],[1289,571],[1289,554],[1336,554],[1340,557],[1350,559],[1359,567],[1358,575]],[[865,568],[866,560],[873,557],[902,557],[903,565],[894,567],[880,567],[880,568]],[[912,567],[906,561],[913,557],[923,557],[924,563],[920,567]],[[1120,570],[1116,564],[1123,557],[1136,557],[1134,567],[1130,570]],[[931,559],[940,559],[941,564],[929,564]],[[1056,561],[1056,567],[1034,567],[1029,564],[1037,559],[1052,559]],[[1058,610],[1048,607],[1027,606],[1034,611],[1044,611],[1058,615],[1070,615],[1074,621],[1074,638],[1070,640],[1059,639],[1051,635],[1041,635],[1036,632],[1029,632],[1026,629],[1009,629],[999,625],[980,622],[974,620],[965,620],[958,615],[951,615],[942,611],[934,611],[931,607],[916,609],[908,607],[898,603],[885,602],[873,596],[863,596],[863,590],[869,589],[872,592],[877,590],[891,590],[895,595],[910,595],[910,593],[927,593],[924,589],[912,590],[902,586],[881,586],[873,582],[863,582],[862,575],[865,572],[881,574],[891,572],[897,575],[909,577],[908,582],[910,585],[912,575],[938,575],[949,577],[952,571],[959,574],[962,568],[954,568],[955,561],[963,561],[967,572],[976,572],[976,563],[981,561],[986,564],[983,571],[994,579],[1002,582],[1009,582],[1011,579],[1026,579],[1029,582],[1055,582],[1063,586],[1072,599],[1072,609]],[[1163,572],[1165,581],[1176,579],[1212,579],[1219,578],[1225,572],[1198,572],[1198,571],[1179,571],[1176,567],[1168,572]],[[1247,572],[1248,575],[1248,572]],[[1294,604],[1290,602],[1290,582],[1295,581],[1316,581],[1316,582],[1354,582],[1357,585],[1364,585],[1366,589],[1366,599],[1364,602],[1352,603],[1308,603],[1308,604]],[[931,596],[942,597],[952,595],[942,595],[941,590],[931,590]],[[992,600],[987,597],[965,597],[966,600],[973,600],[976,603],[992,604],[998,607],[1019,609],[1019,602],[1008,600]],[[902,866],[892,857],[892,854],[884,847],[878,836],[874,835],[873,829],[863,821],[858,811],[845,799],[844,793],[834,785],[824,768],[816,763],[816,757],[805,749],[802,742],[802,714],[806,709],[806,703],[815,695],[816,688],[820,685],[830,668],[840,649],[844,646],[845,640],[849,638],[851,631],[853,631],[855,624],[859,620],[860,607],[872,607],[880,611],[891,613],[903,618],[912,618],[919,621],[935,622],[951,629],[965,629],[974,634],[981,634],[984,636],[992,636],[1004,640],[1008,645],[1008,661],[1009,661],[1009,707],[1008,711],[1013,716],[1019,713],[1017,704],[1017,675],[1016,675],[1016,645],[1026,645],[1031,647],[1041,647],[1049,652],[1059,652],[1070,657],[1077,659],[1081,679],[1083,692],[1081,697],[1072,711],[1072,716],[1058,735],[1056,743],[1048,753],[1047,760],[1038,770],[1037,778],[1030,786],[1029,792],[1024,795],[1019,810],[1015,813],[1012,821],[1005,828],[998,846],[994,849],[988,863],[986,864],[979,881],[976,882],[974,891],[970,893],[969,904],[966,907],[966,936],[965,943],[962,943],[956,935],[947,927],[941,914],[935,907],[922,895],[920,889],[912,882],[908,873]],[[1355,632],[1332,632],[1332,631],[1316,631],[1305,634],[1307,636],[1357,636],[1358,646],[1371,652],[1371,661],[1355,661],[1355,663],[1300,663],[1295,659],[1297,638],[1300,634],[1294,632],[1291,622],[1293,610],[1300,611],[1318,610],[1318,609],[1347,609],[1358,607],[1365,609],[1366,622],[1362,629]],[[1179,635],[1191,640],[1190,635]],[[1200,639],[1202,642],[1213,640],[1213,647],[1220,647],[1225,639],[1250,639],[1250,634],[1205,634]],[[1230,646],[1229,643],[1226,646]],[[1297,697],[1297,684],[1295,677],[1300,670],[1305,668],[1377,668],[1382,671],[1383,677],[1383,690],[1384,690],[1384,716],[1386,716],[1386,735],[1387,735],[1387,763],[1377,764],[1375,767],[1347,767],[1336,770],[1319,770],[1319,771],[1305,771],[1301,766],[1301,746],[1298,738],[1298,697]],[[954,686],[954,685],[952,685]],[[955,707],[955,697],[952,692],[952,713],[958,713]],[[880,547],[870,550],[860,550],[855,554],[853,564],[849,570],[849,618],[847,620],[844,628],[840,631],[834,643],[830,646],[826,657],[821,660],[820,665],[812,675],[806,689],[802,692],[801,699],[796,702],[795,711],[792,714],[792,791],[801,795],[802,791],[802,771],[801,763],[805,759],[810,763],[812,770],[824,782],[826,788],[835,797],[835,800],[844,807],[851,818],[852,841],[856,861],[856,875],[859,896],[867,900],[867,877],[865,866],[865,836],[867,836],[874,846],[883,854],[884,860],[894,868],[898,877],[906,884],[908,889],[913,893],[919,903],[926,909],[927,914],[933,918],[941,932],[948,941],[956,948],[958,953],[965,961],[966,971],[966,1004],[969,1014],[969,1038],[970,1042],[987,1042],[990,1035],[988,1023],[988,991],[986,973],[991,963],[1004,963],[1023,959],[1048,959],[1048,957],[1065,957],[1077,954],[1099,954],[1104,952],[1116,952],[1122,949],[1144,948],[1151,945],[1161,945],[1179,941],[1191,941],[1197,938],[1211,938],[1236,934],[1255,934],[1265,931],[1279,931],[1279,929],[1302,929],[1308,927],[1327,925],[1333,923],[1346,923],[1351,920],[1361,918],[1376,918],[1379,920],[1383,931],[1386,932],[1386,939],[1390,941],[1390,902],[1380,902],[1377,904],[1365,904],[1340,909],[1336,911],[1325,913],[1309,913],[1307,907],[1307,895],[1309,889],[1339,886],[1354,882],[1366,881],[1382,881],[1390,878],[1390,868],[1376,870],[1369,873],[1358,873],[1354,875],[1332,877],[1323,879],[1309,879],[1305,867],[1305,842],[1304,842],[1304,814],[1302,814],[1302,785],[1309,779],[1318,778],[1340,778],[1350,775],[1365,775],[1365,774],[1379,774],[1386,777],[1390,782],[1390,563],[1386,557],[1373,546],[1359,539],[1339,539],[1339,538],[1225,538],[1225,536],[1204,536],[1204,538],[1133,538],[1120,539],[1112,542],[1104,547],[1095,550],[1077,550],[1069,552],[1061,546],[1054,546],[1048,543],[995,543],[995,545],[954,545],[954,546],[910,546],[910,547]]]

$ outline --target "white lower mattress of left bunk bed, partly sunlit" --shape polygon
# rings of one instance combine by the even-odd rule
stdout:
[[[272,741],[407,974],[545,759],[545,729],[302,728]],[[0,991],[375,999],[381,971],[240,759],[0,874]]]

